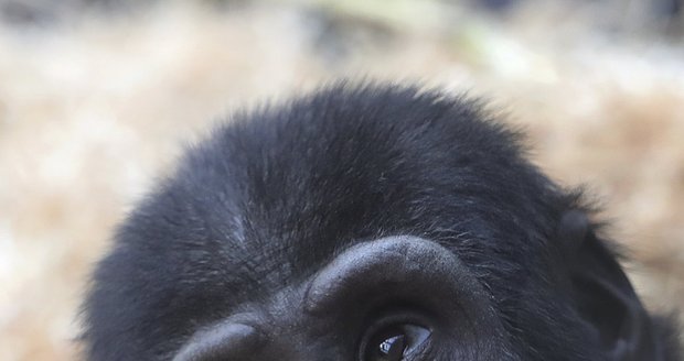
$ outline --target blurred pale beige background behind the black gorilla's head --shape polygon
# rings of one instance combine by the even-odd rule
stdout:
[[[586,184],[684,309],[682,0],[0,0],[0,360],[77,360],[110,231],[235,110],[344,77],[468,91]]]

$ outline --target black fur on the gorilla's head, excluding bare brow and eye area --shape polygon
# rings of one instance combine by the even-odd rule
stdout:
[[[88,360],[170,360],[207,325],[266,308],[353,245],[394,236],[437,242],[464,264],[502,325],[496,359],[677,360],[673,333],[643,310],[580,196],[541,174],[521,136],[481,108],[412,87],[338,85],[220,125],[98,265]],[[342,360],[338,349],[361,337],[327,332],[290,346],[353,340],[313,358]],[[429,344],[425,360],[456,354],[436,336]],[[270,359],[295,354],[280,352]]]

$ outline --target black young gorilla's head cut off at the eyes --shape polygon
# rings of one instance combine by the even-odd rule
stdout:
[[[238,116],[119,228],[88,360],[677,360],[576,193],[477,102],[335,86]]]

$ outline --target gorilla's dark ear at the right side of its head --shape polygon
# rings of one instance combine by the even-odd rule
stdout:
[[[558,233],[570,254],[576,309],[608,360],[641,360],[642,354],[654,354],[651,320],[587,216],[578,210],[566,212]]]

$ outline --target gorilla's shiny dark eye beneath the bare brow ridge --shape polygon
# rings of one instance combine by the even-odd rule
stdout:
[[[370,332],[362,342],[362,361],[400,361],[430,336],[425,327],[399,324]]]

